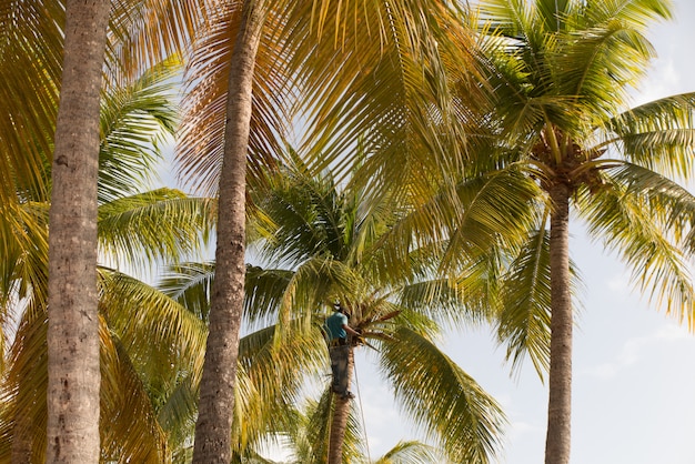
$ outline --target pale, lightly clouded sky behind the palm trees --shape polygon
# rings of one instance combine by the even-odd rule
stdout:
[[[675,21],[652,29],[658,59],[635,103],[695,91],[695,1],[676,0]],[[574,334],[572,463],[695,463],[695,336],[627,285],[627,271],[573,230],[572,259],[585,283]],[[530,362],[511,379],[490,333],[449,337],[446,352],[510,420],[500,464],[541,464],[547,389]],[[357,405],[372,460],[419,436],[391,402],[373,363],[359,356]]]

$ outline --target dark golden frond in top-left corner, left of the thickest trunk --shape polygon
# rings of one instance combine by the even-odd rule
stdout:
[[[0,4],[0,201],[48,198],[48,170],[62,72],[64,6]],[[24,196],[24,195],[22,195]]]

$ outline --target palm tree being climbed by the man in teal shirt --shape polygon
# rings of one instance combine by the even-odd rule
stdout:
[[[477,305],[464,304],[456,282],[433,278],[427,250],[412,253],[410,276],[390,279],[381,269],[385,253],[375,245],[401,212],[386,201],[370,208],[363,189],[341,191],[330,174],[312,179],[299,165],[270,180],[270,189],[259,193],[253,229],[262,238],[259,253],[286,268],[249,268],[250,323],[276,312],[280,340],[306,332],[321,341],[325,311],[341,301],[363,337],[353,340],[350,359],[359,344],[374,347],[396,400],[439,437],[450,458],[490,462],[498,445],[502,413],[433,342],[437,323],[481,321],[485,314]],[[325,346],[318,355],[325,359]],[[331,397],[330,386],[325,395]],[[331,422],[324,430],[330,436],[313,441],[316,462],[344,458],[351,403],[333,396],[332,402],[321,402]]]

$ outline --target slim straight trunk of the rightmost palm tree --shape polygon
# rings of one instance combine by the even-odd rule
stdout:
[[[551,188],[551,370],[545,464],[567,464],[572,418],[572,297],[570,294],[570,188]]]

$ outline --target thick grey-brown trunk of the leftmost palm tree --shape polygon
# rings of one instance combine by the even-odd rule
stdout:
[[[99,463],[97,180],[110,8],[66,6],[49,214],[48,463]]]

